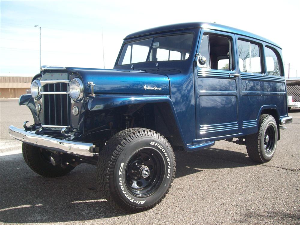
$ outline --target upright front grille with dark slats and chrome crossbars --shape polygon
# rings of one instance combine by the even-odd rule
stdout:
[[[43,125],[69,126],[71,124],[70,97],[67,94],[69,84],[66,82],[55,83],[49,80],[43,81],[42,85]]]

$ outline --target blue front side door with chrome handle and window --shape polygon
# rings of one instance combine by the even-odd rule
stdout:
[[[235,36],[201,31],[195,65],[196,140],[220,140],[240,133],[239,75]]]

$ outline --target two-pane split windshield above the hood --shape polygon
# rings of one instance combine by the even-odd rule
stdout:
[[[155,37],[153,44],[152,39],[126,43],[123,46],[118,65],[146,61],[186,60],[190,55],[193,34]]]

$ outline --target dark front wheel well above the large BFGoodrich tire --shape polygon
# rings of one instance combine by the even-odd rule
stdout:
[[[128,128],[151,129],[163,135],[172,146],[183,146],[173,111],[166,102],[88,111],[81,138],[102,148],[111,137]]]

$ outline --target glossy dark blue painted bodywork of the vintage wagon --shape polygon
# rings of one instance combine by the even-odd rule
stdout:
[[[231,36],[235,65],[231,71],[196,66],[195,55],[199,52],[199,40],[204,32]],[[123,45],[136,38],[178,33],[194,35],[190,57],[184,61],[162,61],[158,63],[158,67],[155,62],[135,63],[133,68],[131,65],[115,65],[114,69],[68,67],[67,72],[71,78],[81,77],[85,88],[84,99],[79,103],[71,102],[71,107],[76,105],[81,109],[78,116],[71,117],[75,131],[82,134],[93,132],[84,130],[88,127],[84,121],[89,113],[99,112],[100,115],[105,110],[121,109],[128,105],[163,103],[168,106],[166,111],[170,110],[170,115],[174,117],[182,146],[186,151],[194,151],[211,146],[216,140],[256,133],[262,110],[273,109],[278,118],[287,116],[284,77],[269,76],[266,72],[241,73],[237,66],[235,43],[238,38],[254,40],[262,46],[272,46],[281,56],[280,47],[265,38],[215,23],[195,22],[137,32],[128,35]],[[118,60],[119,56],[116,61]],[[47,72],[53,71],[44,71]],[[241,76],[233,77],[236,73]],[[87,85],[89,81],[97,85],[94,88],[95,97],[88,96],[91,93]],[[162,89],[145,90],[144,85]],[[26,101],[36,116],[34,103],[28,99]],[[24,104],[26,101],[24,100]],[[123,112],[118,113],[122,115]],[[110,120],[104,118],[97,123],[104,126],[108,121]],[[91,127],[96,128],[95,124]]]

